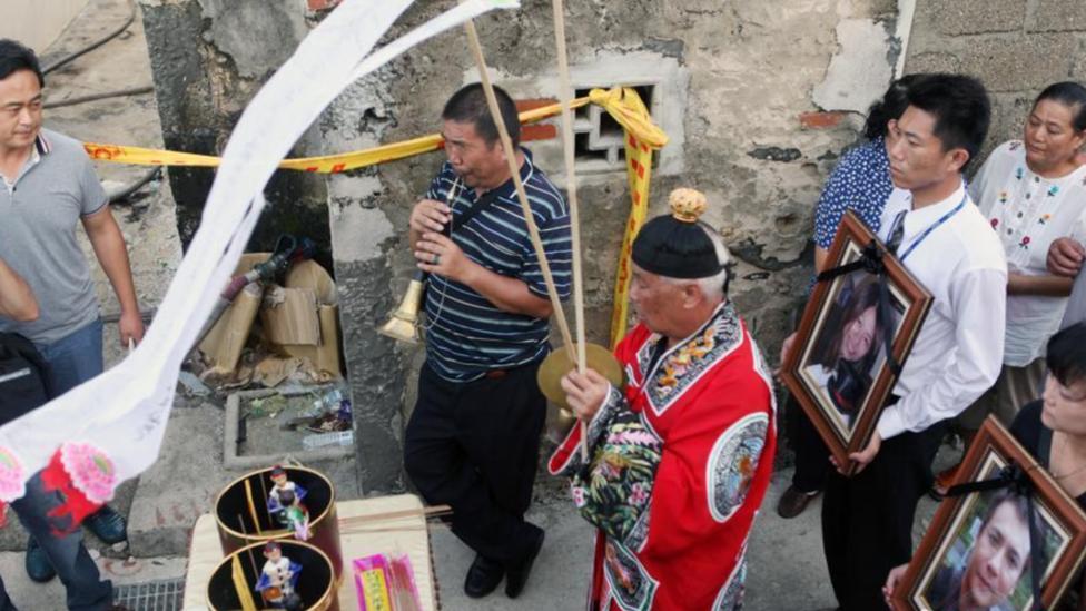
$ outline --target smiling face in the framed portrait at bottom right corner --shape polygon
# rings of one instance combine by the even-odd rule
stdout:
[[[1028,561],[1029,526],[1014,503],[1001,503],[980,529],[966,564],[961,594],[967,608],[988,609],[1006,600]]]

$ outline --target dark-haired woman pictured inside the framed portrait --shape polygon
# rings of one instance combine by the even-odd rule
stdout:
[[[878,277],[866,273],[846,278],[837,298],[836,321],[828,321],[821,349],[813,351],[804,373],[833,405],[846,430],[871,388],[872,371],[882,349],[886,321],[879,313]],[[892,322],[891,322],[892,324]]]

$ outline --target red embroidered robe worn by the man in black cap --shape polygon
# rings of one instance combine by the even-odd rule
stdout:
[[[592,610],[728,610],[743,595],[747,536],[777,443],[769,371],[730,303],[671,348],[635,327],[615,355],[612,387],[588,426],[551,456],[573,500],[600,526]]]

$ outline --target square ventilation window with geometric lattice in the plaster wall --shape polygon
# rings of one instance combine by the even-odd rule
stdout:
[[[631,87],[655,116],[655,85],[623,85]],[[592,87],[575,89],[574,97],[589,95]],[[626,165],[625,137],[622,126],[602,107],[590,104],[577,108],[573,115],[573,150],[579,170],[615,171]],[[654,156],[653,165],[658,162]]]

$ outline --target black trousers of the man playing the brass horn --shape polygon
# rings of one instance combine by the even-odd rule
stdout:
[[[404,438],[404,466],[426,502],[451,505],[453,533],[506,566],[540,532],[524,521],[546,418],[537,368],[457,384],[423,365]]]

